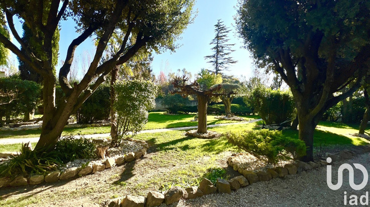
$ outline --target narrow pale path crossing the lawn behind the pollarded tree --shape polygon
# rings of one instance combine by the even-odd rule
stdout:
[[[208,127],[220,127],[220,126],[227,126],[227,125],[236,125],[236,124],[247,124],[247,123],[253,123],[257,121],[261,121],[262,119],[253,119],[250,121],[243,121],[243,122],[236,122],[236,123],[227,123],[227,124],[213,124],[208,125]],[[139,132],[138,134],[142,133],[160,133],[160,132],[168,132],[168,131],[174,131],[174,130],[190,130],[190,129],[197,129],[197,126],[193,127],[178,127],[178,128],[169,128],[169,129],[154,129],[154,130],[143,130]],[[108,138],[111,134],[94,134],[94,135],[84,135],[85,138]],[[78,136],[75,136],[78,138]],[[16,143],[27,143],[29,141],[31,142],[37,142],[39,137],[37,138],[0,138],[0,144],[16,144]]]

